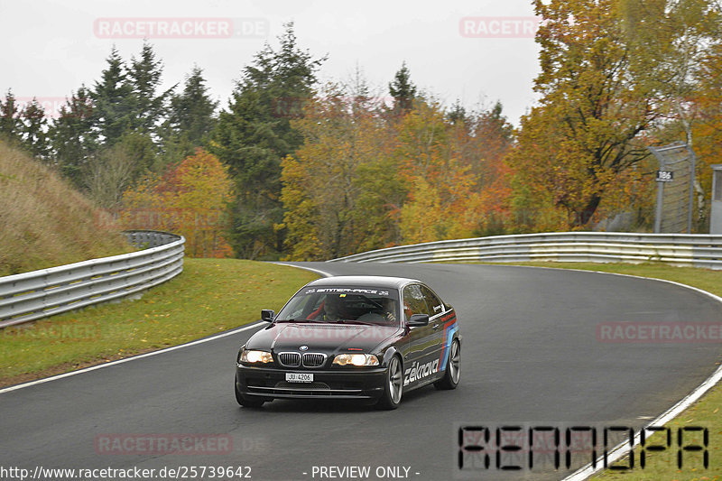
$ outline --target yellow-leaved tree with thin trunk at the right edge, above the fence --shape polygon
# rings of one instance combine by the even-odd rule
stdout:
[[[700,105],[708,96],[708,60],[722,40],[720,5],[710,0],[624,0],[622,5],[634,77],[653,85],[654,108],[661,115],[651,142],[683,141],[695,149],[702,143],[694,188],[697,217],[704,224],[711,169],[708,137],[696,133],[705,110]]]

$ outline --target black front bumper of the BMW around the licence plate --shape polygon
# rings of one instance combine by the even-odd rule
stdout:
[[[286,373],[313,374],[312,383],[289,383]],[[293,369],[236,367],[236,388],[245,396],[266,399],[378,399],[384,393],[385,367],[349,369]]]

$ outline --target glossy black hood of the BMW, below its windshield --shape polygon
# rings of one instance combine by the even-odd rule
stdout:
[[[256,332],[248,340],[246,347],[282,352],[299,351],[301,346],[307,346],[309,352],[327,354],[347,351],[350,348],[363,349],[370,353],[399,331],[398,326],[277,323]]]

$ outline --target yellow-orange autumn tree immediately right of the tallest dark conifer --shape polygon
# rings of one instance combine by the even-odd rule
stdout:
[[[283,226],[293,260],[322,260],[395,244],[405,196],[382,106],[327,86],[292,125],[305,138],[282,162]],[[350,95],[349,95],[350,94]]]

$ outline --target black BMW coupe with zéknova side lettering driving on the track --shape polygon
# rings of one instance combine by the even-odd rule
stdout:
[[[422,282],[339,276],[306,284],[236,358],[236,400],[366,399],[395,409],[433,383],[455,389],[461,336],[454,309]]]

